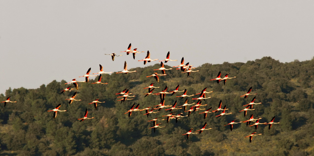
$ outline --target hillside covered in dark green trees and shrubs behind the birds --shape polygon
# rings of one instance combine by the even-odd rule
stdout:
[[[166,68],[170,68],[166,66]],[[78,83],[79,89],[60,94],[60,90],[70,86],[66,81],[52,81],[48,85],[41,85],[38,89],[8,89],[6,94],[0,95],[0,101],[11,96],[11,101],[16,103],[3,103],[0,107],[0,155],[314,155],[314,59],[310,61],[294,61],[281,63],[271,57],[263,57],[246,63],[236,62],[223,64],[206,63],[195,70],[199,72],[181,73],[180,70],[167,70],[166,76],[160,76],[160,83],[153,77],[147,78],[160,68],[160,64],[135,68],[135,73],[128,74],[102,74],[102,82],[108,84],[91,84],[98,80],[98,77],[91,79],[89,83]],[[194,70],[194,69],[193,69]],[[229,73],[224,85],[210,81]],[[78,77],[81,75],[76,75]],[[77,78],[83,81],[84,78]],[[168,92],[187,89],[187,95],[197,94],[207,87],[206,97],[202,100],[201,109],[212,110],[218,108],[219,101],[226,105],[226,113],[232,114],[218,116],[217,113],[208,113],[206,119],[203,114],[205,110],[191,112],[189,117],[181,117],[176,121],[171,119],[169,123],[162,123],[161,128],[156,128],[154,133],[153,122],[149,121],[157,117],[169,114],[165,109],[158,113],[152,113],[148,117],[145,111],[134,111],[128,117],[126,113],[135,103],[139,109],[153,107],[160,104],[159,95],[148,95],[150,83],[155,83],[153,93],[162,91],[165,86]],[[5,83],[5,82],[2,82]],[[72,85],[72,84],[71,84]],[[252,93],[246,99],[240,97],[252,87]],[[134,100],[125,102],[117,101],[115,93],[129,89]],[[77,91],[75,99],[68,104],[68,99]],[[181,99],[183,92],[177,92],[173,96],[165,95],[165,105],[173,105],[177,100],[177,107],[188,103],[197,102],[192,98],[198,95]],[[256,96],[256,103],[253,109],[248,110],[244,117],[243,110],[252,98]],[[95,99],[105,101],[98,103],[98,109],[93,104],[88,105]],[[54,109],[61,103],[56,119],[53,119]],[[187,110],[189,109],[188,106]],[[85,109],[88,109],[88,117],[84,117]],[[154,107],[156,108],[156,107]],[[170,107],[168,107],[170,108]],[[167,109],[167,108],[166,108]],[[157,110],[155,110],[156,112]],[[187,115],[183,109],[172,110]],[[177,114],[174,113],[174,114]],[[239,123],[230,127],[224,126],[232,120],[246,121],[250,115],[260,119],[260,123],[270,122],[275,117],[271,129],[268,125],[259,125],[257,130],[254,126],[246,126],[246,123]],[[165,119],[166,117],[159,118]],[[149,121],[149,122],[148,122]],[[185,134],[193,128],[193,132],[202,128],[207,122],[206,128],[200,134],[191,134],[189,139]],[[255,122],[251,122],[251,125]],[[245,138],[253,132],[262,134],[254,136],[252,142]]]

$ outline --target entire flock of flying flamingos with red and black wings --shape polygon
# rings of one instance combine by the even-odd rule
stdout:
[[[132,54],[133,54],[133,59],[135,59],[135,54],[136,54],[136,53],[141,53],[141,52],[144,52],[144,51],[139,52],[139,51],[137,51],[137,48],[133,49],[133,51],[132,51],[132,50],[131,50],[131,43],[130,43],[130,45],[128,46],[127,50],[126,50],[126,51],[121,51],[121,52],[126,52],[127,55],[129,55],[130,53],[132,53]],[[105,54],[105,55],[111,55],[112,61],[114,61],[115,56],[122,56],[122,55],[116,55],[116,53]],[[170,60],[169,57],[170,57],[170,52],[167,53],[166,59],[165,59],[165,60],[162,60],[162,61],[165,61],[165,63],[168,62],[168,61],[177,61],[177,60]],[[138,60],[138,61],[143,61],[144,64],[146,64],[147,62],[156,61],[156,60],[158,60],[158,59],[154,59],[154,60],[150,59],[150,53],[149,53],[149,51],[147,51],[147,56],[145,57],[145,59],[143,59],[143,60]],[[167,74],[165,73],[165,70],[171,70],[171,69],[172,69],[172,68],[166,69],[166,68],[164,67],[164,63],[163,63],[162,61],[160,61],[160,62],[161,62],[161,63],[160,63],[160,68],[159,68],[159,69],[154,69],[154,71],[155,71],[155,70],[161,70],[161,73],[162,73],[162,74],[153,73],[152,75],[147,76],[147,77],[154,76],[154,78],[156,79],[156,82],[157,82],[157,83],[159,83],[159,77],[158,77],[158,76],[165,76],[165,75],[167,75]],[[100,66],[100,71],[99,71],[98,73],[93,73],[93,74],[99,74],[98,81],[95,82],[95,83],[98,83],[98,84],[99,84],[99,83],[101,83],[101,84],[108,84],[108,83],[102,83],[102,82],[101,82],[101,74],[104,74],[104,73],[106,73],[106,72],[103,71],[103,67],[102,67],[101,65],[99,65],[99,66]],[[181,73],[187,73],[187,76],[189,76],[189,75],[191,74],[191,72],[198,72],[198,70],[197,70],[197,71],[192,71],[192,69],[195,68],[195,67],[192,67],[192,65],[189,65],[189,62],[186,63],[186,64],[184,64],[184,58],[183,58],[183,57],[182,57],[182,59],[181,59],[181,64],[178,65],[178,66],[174,66],[174,67],[178,67],[178,68],[176,68],[176,69],[177,69],[177,70],[181,70],[181,71],[182,71]],[[85,81],[77,81],[77,80],[74,78],[74,79],[73,79],[71,82],[69,82],[69,83],[72,83],[72,84],[74,85],[74,87],[78,90],[78,83],[77,83],[77,82],[86,82],[86,83],[88,83],[90,76],[97,76],[97,75],[89,75],[90,69],[91,69],[91,68],[88,69],[87,73],[86,73],[84,76],[80,76],[80,77],[85,77]],[[133,72],[136,72],[136,71],[128,71],[128,70],[127,70],[127,62],[124,62],[124,70],[123,70],[122,72],[118,72],[118,73],[125,73],[125,74],[127,74],[127,73],[133,73]],[[112,72],[108,72],[108,73],[112,73]],[[218,75],[217,75],[217,78],[214,78],[214,79],[211,79],[211,80],[216,80],[217,83],[219,83],[220,81],[223,81],[224,84],[225,84],[227,79],[231,79],[231,78],[228,77],[228,75],[229,75],[229,74],[226,74],[224,78],[221,78],[221,77],[220,77],[220,76],[221,76],[221,72],[219,71],[219,73],[218,73]],[[236,77],[232,77],[232,78],[236,78]],[[65,84],[68,84],[68,83],[65,83]],[[93,83],[92,83],[92,84],[93,84]],[[68,88],[62,90],[61,93],[64,93],[65,91],[71,91],[71,90],[73,90],[73,88],[71,88],[71,87],[72,87],[72,86],[69,86]],[[146,97],[146,96],[148,96],[148,95],[150,95],[150,94],[153,94],[153,91],[154,91],[155,88],[160,88],[160,87],[155,87],[155,86],[154,86],[154,83],[151,83],[148,87],[144,88],[144,89],[148,89],[148,93],[145,94],[144,97]],[[244,98],[247,98],[249,95],[255,95],[255,94],[251,94],[251,91],[252,91],[252,87],[247,91],[246,94],[244,94],[244,95],[242,95],[242,96],[244,96]],[[175,94],[175,93],[177,93],[177,92],[183,92],[182,95],[176,96],[176,97],[181,97],[181,99],[183,99],[184,97],[194,96],[194,94],[193,94],[193,95],[187,95],[187,89],[182,90],[182,91],[179,91],[179,85],[176,87],[175,90],[169,91],[169,92],[167,92],[167,86],[166,86],[165,89],[162,90],[161,92],[159,92],[159,93],[154,93],[154,95],[160,95],[160,101],[161,101],[161,102],[160,102],[159,105],[155,105],[155,106],[152,106],[152,107],[147,107],[147,108],[144,108],[144,109],[139,109],[139,104],[135,106],[135,103],[134,103],[134,104],[132,105],[131,109],[128,110],[125,114],[128,113],[128,116],[130,117],[133,111],[143,111],[143,110],[145,110],[146,113],[145,113],[144,115],[147,115],[147,117],[148,117],[150,113],[158,113],[160,110],[162,110],[163,108],[165,109],[166,107],[171,107],[171,108],[169,108],[169,109],[165,109],[166,111],[169,110],[169,112],[171,112],[172,110],[177,110],[177,109],[183,109],[185,112],[188,112],[188,115],[184,116],[183,113],[175,114],[175,113],[176,113],[176,111],[175,111],[175,112],[171,112],[170,114],[166,115],[166,118],[165,118],[165,119],[162,119],[162,117],[165,117],[165,116],[161,116],[161,117],[158,117],[158,118],[155,118],[155,119],[150,120],[150,121],[153,121],[153,127],[150,127],[150,128],[154,128],[154,132],[155,132],[156,128],[158,128],[158,127],[159,127],[159,128],[160,128],[160,127],[165,127],[165,126],[160,126],[160,125],[162,125],[162,123],[157,123],[156,121],[159,122],[159,121],[166,120],[167,123],[168,123],[168,122],[170,121],[170,119],[176,119],[176,122],[177,122],[178,119],[183,118],[183,117],[189,117],[190,114],[191,114],[191,112],[195,112],[195,111],[198,111],[198,110],[205,110],[204,112],[199,113],[199,114],[203,114],[203,113],[204,113],[204,119],[207,117],[207,113],[217,113],[217,112],[221,111],[221,113],[220,113],[219,115],[217,115],[216,117],[224,116],[224,115],[228,115],[228,114],[232,114],[231,112],[230,112],[230,113],[225,113],[226,110],[229,110],[229,109],[226,108],[226,105],[225,105],[223,108],[221,108],[221,104],[222,104],[221,100],[220,100],[219,105],[218,105],[218,108],[217,108],[216,110],[211,110],[212,107],[210,107],[209,109],[201,109],[201,108],[200,108],[201,106],[206,106],[206,105],[202,105],[202,100],[211,98],[211,97],[207,97],[207,98],[206,98],[206,94],[213,92],[213,91],[207,92],[207,91],[206,91],[206,88],[204,88],[200,93],[198,93],[198,94],[199,94],[199,97],[198,97],[198,98],[192,98],[192,100],[198,100],[198,102],[197,102],[196,104],[195,104],[195,103],[188,104],[188,103],[187,103],[187,99],[186,99],[186,100],[185,100],[185,103],[184,103],[183,105],[181,105],[181,106],[178,106],[178,107],[176,107],[177,101],[175,101],[175,103],[174,103],[173,105],[165,105],[165,94],[171,94],[171,96],[172,96],[173,94]],[[76,100],[76,99],[75,99],[76,94],[77,94],[77,92],[75,92],[71,98],[65,99],[65,100],[69,100],[69,104],[71,104],[74,100],[75,100],[75,101],[80,101],[80,100]],[[122,99],[117,100],[117,101],[121,101],[121,103],[124,102],[125,100],[133,100],[133,99],[128,99],[128,97],[134,97],[134,96],[135,96],[135,95],[130,96],[130,95],[132,95],[132,93],[129,93],[129,90],[128,90],[128,89],[124,89],[122,92],[116,93],[116,95],[120,95],[120,94],[121,94],[122,96],[118,96],[117,98],[122,98]],[[195,94],[195,95],[198,95],[198,94]],[[240,96],[240,97],[242,97],[242,96]],[[6,104],[7,104],[8,102],[16,102],[16,101],[10,101],[10,98],[11,98],[11,97],[8,97],[7,100],[2,101],[2,102],[4,102],[4,107],[6,106]],[[241,110],[241,111],[244,111],[244,117],[246,116],[246,113],[247,113],[248,110],[255,110],[255,109],[252,109],[252,108],[253,108],[253,105],[261,104],[261,102],[260,102],[260,103],[254,103],[255,98],[256,98],[256,97],[254,97],[254,98],[252,99],[252,101],[251,101],[250,103],[248,103],[247,105],[243,105],[243,106],[246,106],[246,108],[244,108],[243,110]],[[89,103],[89,104],[94,104],[95,109],[97,109],[97,103],[103,103],[103,102],[100,102],[99,99],[95,99],[94,101],[92,101],[92,102]],[[195,105],[192,106],[192,107],[190,107],[190,109],[186,110],[186,108],[187,108],[188,105],[193,105],[193,104],[195,104]],[[48,110],[48,111],[53,111],[53,112],[54,112],[54,113],[53,113],[53,118],[54,118],[54,119],[56,119],[56,117],[57,117],[57,112],[58,112],[58,111],[67,111],[67,110],[59,110],[60,106],[61,106],[61,104],[57,105],[57,107],[56,107],[55,109],[53,109],[53,110]],[[183,108],[179,108],[179,107],[182,107],[182,106],[183,106]],[[155,108],[153,108],[153,107],[155,107]],[[241,112],[241,111],[240,111],[240,112]],[[80,118],[80,119],[78,119],[78,120],[84,121],[85,119],[93,119],[93,118],[94,118],[94,117],[88,118],[88,117],[87,117],[87,114],[88,114],[88,110],[87,110],[87,108],[86,108],[84,117],[83,117],[83,118]],[[159,119],[159,118],[161,118],[161,119]],[[259,124],[265,124],[265,125],[266,125],[266,124],[269,124],[268,129],[270,129],[271,126],[272,126],[272,124],[277,124],[277,123],[279,123],[279,122],[277,122],[277,123],[274,122],[275,116],[272,118],[272,120],[271,120],[269,123],[266,123],[266,122],[265,122],[265,123],[260,123],[260,122],[259,122],[260,119],[261,119],[261,118],[255,119],[255,118],[253,117],[253,114],[252,114],[252,115],[250,116],[250,118],[249,118],[248,120],[246,120],[246,121],[236,122],[237,120],[233,120],[233,121],[231,121],[230,123],[226,124],[225,126],[230,125],[230,131],[232,131],[233,124],[237,124],[237,123],[246,123],[246,126],[248,126],[248,125],[251,124],[251,121],[255,121],[255,123],[254,123],[253,125],[250,125],[250,126],[255,126],[255,129],[257,129],[257,127],[258,127]],[[187,135],[187,139],[188,139],[190,134],[202,133],[204,130],[212,129],[212,128],[206,128],[206,125],[207,125],[207,122],[204,123],[204,125],[203,125],[203,127],[202,127],[201,129],[195,131],[195,133],[192,132],[193,129],[190,129],[187,133],[182,134],[182,135]],[[199,131],[199,132],[198,132],[198,131]],[[262,135],[262,134],[257,134],[256,132],[253,132],[252,134],[250,134],[250,135],[248,135],[248,136],[246,136],[246,137],[249,137],[249,138],[250,138],[250,143],[251,143],[252,137],[253,137],[253,136],[257,136],[257,135]]]

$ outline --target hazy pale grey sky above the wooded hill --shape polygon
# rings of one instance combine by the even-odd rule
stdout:
[[[151,58],[204,63],[280,62],[314,56],[314,1],[22,1],[0,0],[0,94],[71,81],[89,67],[144,67]],[[111,56],[116,52],[113,62]],[[154,65],[159,62],[146,64]],[[180,62],[169,62],[175,66]],[[94,77],[91,77],[94,78]],[[78,78],[84,81],[84,78]]]

